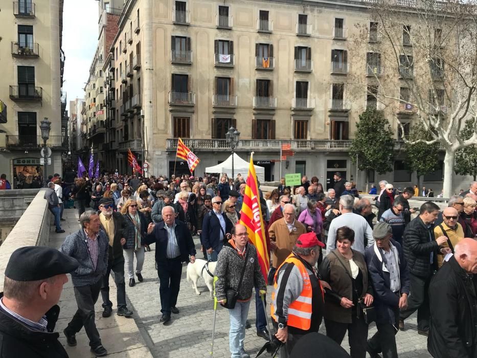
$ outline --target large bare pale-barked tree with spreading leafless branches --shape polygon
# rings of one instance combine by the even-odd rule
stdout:
[[[366,58],[372,77],[368,97],[376,92],[379,105],[397,114],[405,142],[440,143],[443,189],[449,197],[456,151],[477,144],[477,121],[470,138],[460,135],[466,120],[477,117],[477,0],[362,1],[369,5],[371,20],[358,26],[355,44],[357,49],[371,47],[366,57],[357,56]],[[407,137],[406,126],[416,120],[429,140]]]

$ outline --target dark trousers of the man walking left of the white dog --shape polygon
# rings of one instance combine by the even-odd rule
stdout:
[[[182,275],[180,257],[157,262],[157,276],[159,277],[159,296],[161,298],[161,312],[171,315],[171,307],[177,304]]]

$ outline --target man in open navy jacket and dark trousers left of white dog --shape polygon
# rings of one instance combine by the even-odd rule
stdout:
[[[159,277],[159,294],[161,296],[160,322],[170,324],[171,312],[179,313],[176,307],[180,289],[182,263],[195,261],[195,247],[191,232],[186,224],[175,219],[173,207],[162,209],[164,221],[158,224],[150,223],[147,228],[146,243],[156,244],[155,260],[157,276]]]

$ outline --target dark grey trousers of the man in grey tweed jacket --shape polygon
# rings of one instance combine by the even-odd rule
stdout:
[[[98,301],[101,280],[93,285],[74,287],[78,310],[66,327],[69,334],[78,333],[84,326],[89,338],[89,346],[96,348],[101,344],[98,329],[95,323],[95,303]]]

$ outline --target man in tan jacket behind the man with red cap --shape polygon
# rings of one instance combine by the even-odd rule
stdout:
[[[295,207],[285,204],[283,218],[275,221],[268,228],[272,265],[277,269],[290,255],[291,249],[301,234],[306,234],[305,226],[295,218]]]

